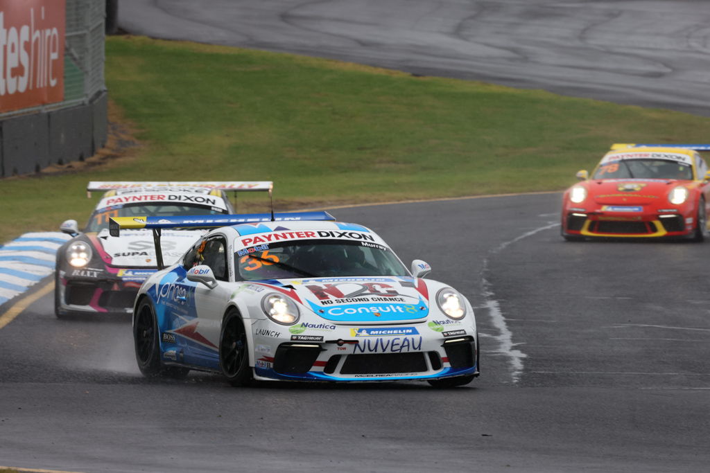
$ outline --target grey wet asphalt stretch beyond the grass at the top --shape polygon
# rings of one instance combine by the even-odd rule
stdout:
[[[119,26],[710,115],[704,0],[121,0]]]

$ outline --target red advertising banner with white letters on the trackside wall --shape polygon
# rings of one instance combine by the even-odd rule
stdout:
[[[65,0],[0,0],[0,113],[64,100]]]

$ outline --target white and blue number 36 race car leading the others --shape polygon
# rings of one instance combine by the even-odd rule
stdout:
[[[217,227],[138,291],[133,336],[146,376],[421,380],[479,375],[471,304],[411,272],[376,233],[325,212],[113,218],[110,228]],[[160,254],[160,251],[156,251]]]

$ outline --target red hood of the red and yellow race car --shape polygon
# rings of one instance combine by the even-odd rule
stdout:
[[[601,179],[589,182],[589,196],[601,205],[645,205],[665,201],[668,193],[679,184],[692,181],[672,179]],[[663,200],[662,200],[663,199]]]

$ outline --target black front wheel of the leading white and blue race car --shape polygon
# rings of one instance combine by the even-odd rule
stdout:
[[[244,322],[236,309],[230,309],[219,333],[219,368],[232,386],[248,386],[253,381],[249,366],[249,340]]]

